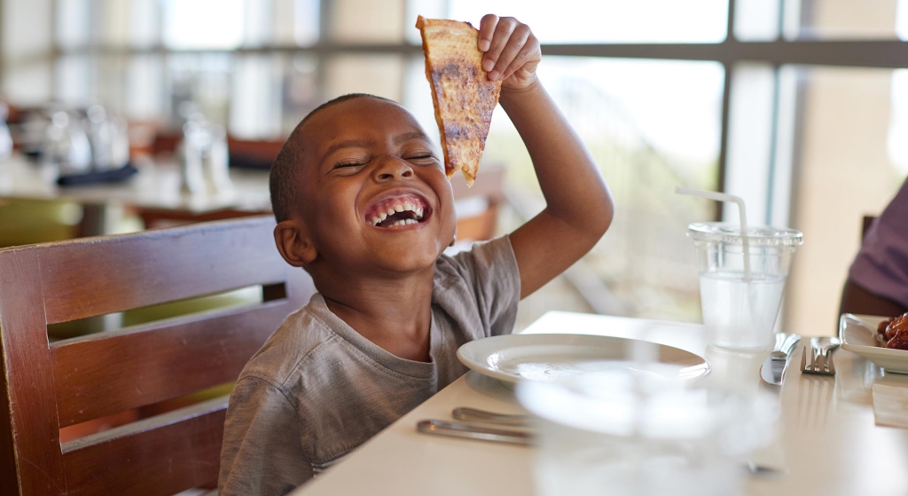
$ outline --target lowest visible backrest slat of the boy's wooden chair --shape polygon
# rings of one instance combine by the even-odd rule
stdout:
[[[175,494],[217,482],[226,412],[221,397],[68,443],[69,496]]]

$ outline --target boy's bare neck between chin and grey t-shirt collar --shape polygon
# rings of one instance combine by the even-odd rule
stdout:
[[[394,280],[337,278],[319,284],[329,310],[384,350],[429,362],[432,277],[435,267]]]

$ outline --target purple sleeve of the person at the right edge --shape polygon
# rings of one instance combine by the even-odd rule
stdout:
[[[867,232],[848,278],[908,307],[908,180]]]

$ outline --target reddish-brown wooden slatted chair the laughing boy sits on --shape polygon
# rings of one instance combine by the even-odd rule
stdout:
[[[216,483],[227,396],[61,443],[60,429],[235,381],[311,279],[270,217],[0,250],[0,493]],[[262,285],[262,303],[48,342],[46,327]]]

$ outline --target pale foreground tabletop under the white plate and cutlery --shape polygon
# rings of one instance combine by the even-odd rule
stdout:
[[[809,346],[804,338],[792,353],[781,387],[769,385],[759,374],[768,351],[708,346],[704,326],[696,323],[547,312],[522,333],[593,334],[673,346],[706,359],[710,373],[705,382],[778,402],[774,440],[752,455],[753,463],[773,470],[748,473],[743,494],[908,494],[908,429],[877,425],[872,393],[873,384],[908,388],[908,375],[887,373],[841,349],[834,352],[834,376],[802,373],[797,365],[802,348]],[[291,494],[536,493],[538,448],[417,431],[419,421],[450,421],[459,407],[527,413],[500,382],[467,372]]]

